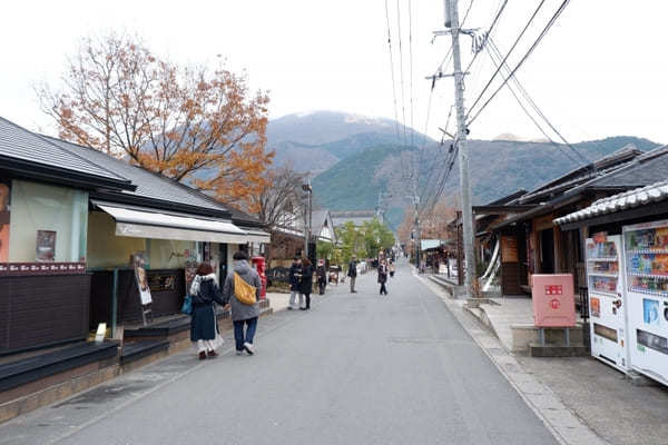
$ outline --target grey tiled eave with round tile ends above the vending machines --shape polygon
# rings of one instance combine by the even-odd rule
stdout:
[[[668,177],[668,170],[664,170],[664,176]],[[564,217],[554,219],[554,224],[560,226],[568,222],[574,222],[638,206],[658,202],[665,199],[668,199],[668,180],[662,180],[646,187],[625,191],[623,194],[599,199],[582,210],[578,210]]]

